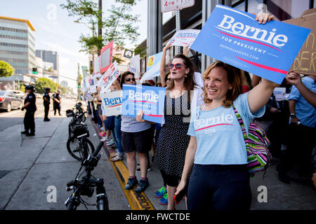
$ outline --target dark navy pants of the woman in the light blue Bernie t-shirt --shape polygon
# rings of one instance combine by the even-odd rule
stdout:
[[[194,165],[188,210],[249,210],[251,189],[245,165]]]

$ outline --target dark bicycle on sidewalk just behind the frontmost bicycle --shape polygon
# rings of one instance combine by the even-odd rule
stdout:
[[[88,139],[90,136],[87,125],[73,125],[73,135],[67,140],[67,151],[76,160],[83,161],[88,156],[87,153],[93,153],[94,146]]]

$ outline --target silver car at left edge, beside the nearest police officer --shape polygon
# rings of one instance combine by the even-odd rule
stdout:
[[[11,111],[11,109],[21,109],[23,106],[22,99],[11,90],[0,91],[0,109]]]

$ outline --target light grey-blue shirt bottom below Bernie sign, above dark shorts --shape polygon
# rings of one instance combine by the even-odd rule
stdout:
[[[136,118],[129,116],[121,116],[121,131],[122,132],[143,132],[150,129],[151,125],[147,122],[138,122]]]

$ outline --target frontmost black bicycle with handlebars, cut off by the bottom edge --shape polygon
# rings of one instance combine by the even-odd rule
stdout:
[[[91,172],[93,171],[94,167],[98,165],[98,161],[101,158],[101,155],[98,154],[100,149],[103,146],[103,142],[101,141],[96,151],[88,155],[86,160],[81,162],[81,167],[77,176],[74,178],[73,181],[67,183],[67,191],[74,190],[74,193],[70,197],[67,198],[65,202],[65,206],[67,210],[76,210],[80,204],[84,204],[84,207],[88,206],[96,206],[98,210],[109,210],[109,202],[107,200],[107,194],[105,192],[104,181],[103,179],[96,179]],[[86,148],[85,148],[86,150]],[[84,173],[82,172],[80,175],[82,167],[85,167],[84,172],[86,172],[85,176],[80,176]],[[79,177],[78,177],[79,175]],[[96,188],[96,202],[97,204],[88,204],[84,200],[82,200],[82,196],[92,197],[94,188]],[[88,208],[86,207],[86,210]]]

